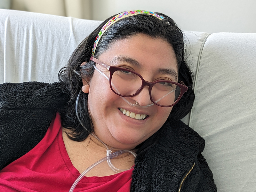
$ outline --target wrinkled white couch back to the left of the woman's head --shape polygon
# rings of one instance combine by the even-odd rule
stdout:
[[[0,10],[0,83],[58,81],[76,46],[101,23]]]

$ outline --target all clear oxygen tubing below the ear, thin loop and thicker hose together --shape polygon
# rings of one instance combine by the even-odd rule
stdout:
[[[78,121],[80,122],[80,124],[84,127],[82,121],[80,120],[79,116],[78,116],[78,112],[77,112],[77,106],[78,106],[78,99],[80,97],[80,94],[81,94],[82,90],[79,92],[78,96],[77,96],[77,99],[76,99],[76,117],[78,119]],[[87,130],[85,127],[84,127],[85,130]],[[99,161],[97,161],[96,163],[92,164],[90,167],[88,167],[76,180],[75,182],[73,183],[73,185],[71,186],[71,188],[69,189],[69,192],[73,192],[76,185],[78,184],[78,182],[84,177],[84,175],[89,172],[93,167],[95,167],[96,165],[104,162],[104,161],[107,161],[108,162],[108,166],[116,173],[119,173],[119,172],[123,172],[123,171],[127,171],[127,170],[130,170],[130,169],[118,169],[116,168],[112,163],[111,163],[111,159],[119,156],[119,155],[122,155],[123,153],[131,153],[135,158],[137,156],[136,153],[130,151],[130,150],[119,150],[119,151],[116,151],[114,153],[112,153],[112,151],[108,148],[108,146],[103,142],[101,141],[96,135],[94,135],[93,133],[90,133],[93,137],[95,137],[97,140],[99,140],[106,148],[107,148],[107,156],[100,159]]]

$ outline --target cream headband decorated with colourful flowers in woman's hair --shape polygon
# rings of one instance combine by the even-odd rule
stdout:
[[[162,20],[164,19],[164,17],[162,16],[159,16],[157,15],[156,13],[153,13],[151,11],[145,11],[145,10],[136,10],[136,11],[125,11],[125,12],[122,12],[118,15],[116,15],[115,17],[113,17],[112,19],[110,19],[103,27],[102,29],[100,30],[98,36],[96,37],[95,39],[95,43],[92,47],[92,56],[94,56],[94,53],[95,53],[95,50],[96,50],[96,47],[100,41],[100,38],[102,37],[102,35],[105,33],[105,31],[111,26],[113,25],[116,21],[120,20],[120,19],[123,19],[125,17],[129,17],[129,16],[132,16],[132,15],[138,15],[138,14],[147,14],[147,15],[153,15],[155,17],[157,17],[158,19]]]

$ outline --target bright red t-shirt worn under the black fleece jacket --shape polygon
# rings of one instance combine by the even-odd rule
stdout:
[[[85,176],[74,191],[128,192],[131,187],[132,170],[105,177]],[[43,140],[0,171],[0,191],[68,192],[79,175],[66,151],[60,115],[57,113]]]

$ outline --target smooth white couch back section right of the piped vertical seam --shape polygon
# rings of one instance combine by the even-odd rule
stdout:
[[[200,60],[191,127],[219,192],[256,191],[256,34],[215,33]]]

